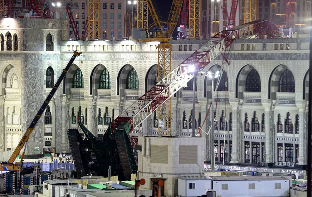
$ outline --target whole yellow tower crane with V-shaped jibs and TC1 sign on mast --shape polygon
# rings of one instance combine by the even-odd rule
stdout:
[[[158,45],[158,81],[160,81],[164,76],[167,76],[171,70],[171,50],[172,46],[169,44],[169,41],[172,39],[172,33],[174,28],[177,25],[179,13],[182,8],[183,0],[173,0],[169,17],[167,22],[161,22],[158,19],[156,10],[152,3],[152,0],[139,0],[138,3],[138,19],[137,19],[137,27],[145,28],[147,33],[149,33],[149,29],[155,28],[155,32],[153,32],[150,38],[146,38],[145,40],[141,40],[141,42],[149,42],[149,41],[158,41],[160,44]],[[145,7],[146,5],[146,7]],[[142,8],[144,8],[142,10]],[[148,13],[150,13],[151,18],[153,19],[153,23],[148,25]],[[162,25],[163,24],[163,25]],[[164,28],[164,26],[166,28]],[[168,99],[158,110],[158,119],[159,122],[163,122],[163,128],[158,124],[158,133],[162,133],[164,135],[171,135],[172,130],[172,110],[171,110],[171,98]]]

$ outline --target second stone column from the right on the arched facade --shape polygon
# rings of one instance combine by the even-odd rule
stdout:
[[[268,163],[273,162],[272,155],[270,154],[273,149],[271,143],[272,131],[270,131],[270,113],[271,113],[271,102],[262,103],[264,107],[264,130],[265,130],[265,143],[264,143],[264,158]],[[274,140],[273,140],[274,141]]]

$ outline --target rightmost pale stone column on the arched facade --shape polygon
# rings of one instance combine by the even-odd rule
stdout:
[[[306,130],[305,130],[305,101],[296,101],[296,105],[299,110],[299,155],[298,155],[298,165],[306,165],[306,152],[305,148],[307,143],[305,140]],[[295,149],[295,147],[294,147]]]

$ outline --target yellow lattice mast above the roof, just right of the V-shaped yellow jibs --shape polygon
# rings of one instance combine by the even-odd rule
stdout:
[[[201,0],[190,0],[188,8],[189,38],[200,37],[200,2]]]

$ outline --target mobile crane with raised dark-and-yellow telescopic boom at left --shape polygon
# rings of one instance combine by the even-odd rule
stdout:
[[[63,72],[61,73],[61,75],[57,79],[56,83],[52,87],[50,93],[46,97],[46,100],[43,102],[43,104],[39,108],[35,118],[32,120],[32,122],[29,125],[29,127],[27,128],[25,134],[22,136],[22,139],[17,144],[17,147],[15,148],[14,152],[12,153],[10,159],[7,162],[1,162],[1,170],[17,171],[18,168],[22,168],[23,167],[21,163],[22,163],[22,160],[24,158],[27,141],[28,141],[30,135],[32,134],[32,131],[35,129],[35,126],[36,126],[38,120],[41,118],[43,112],[46,110],[46,107],[50,103],[50,100],[52,99],[52,97],[53,97],[54,93],[56,92],[57,88],[61,84],[62,80],[65,78],[66,73],[67,73],[69,67],[74,62],[76,57],[79,56],[80,54],[81,54],[81,52],[79,53],[77,51],[74,51],[73,56],[71,57],[70,61],[67,63],[66,67],[63,69]],[[22,155],[21,155],[21,162],[19,162],[19,163],[16,162],[15,164],[13,164],[13,162],[16,159],[17,155],[20,154],[20,152],[22,151],[24,146],[25,146],[25,148],[24,148],[24,150],[22,152]]]

